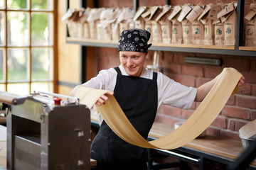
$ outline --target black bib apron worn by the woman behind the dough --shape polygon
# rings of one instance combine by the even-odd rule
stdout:
[[[157,73],[153,80],[141,77],[123,76],[119,67],[114,97],[134,128],[145,139],[154,123],[157,109]],[[97,160],[97,169],[129,169],[146,168],[147,152],[119,138],[102,122],[91,146],[91,158]]]

